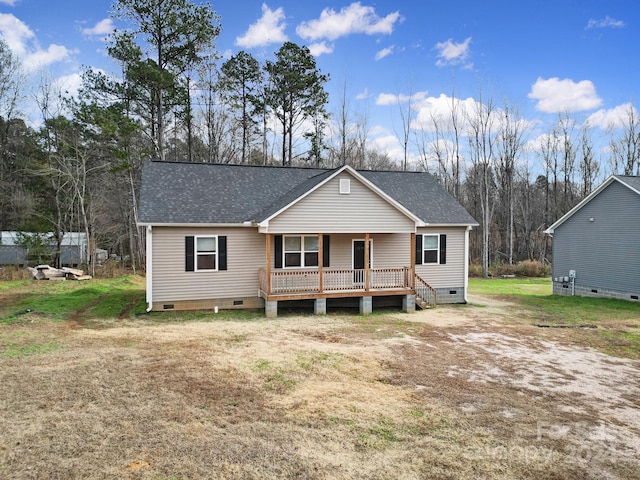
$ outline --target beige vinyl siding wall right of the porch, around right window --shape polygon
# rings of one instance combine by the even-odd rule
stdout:
[[[445,234],[447,236],[447,263],[416,265],[416,273],[436,289],[464,289],[466,227],[419,228],[416,235]]]

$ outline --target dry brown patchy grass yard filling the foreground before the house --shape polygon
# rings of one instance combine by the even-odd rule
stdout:
[[[23,315],[0,324],[0,477],[640,478],[638,362],[514,314]]]

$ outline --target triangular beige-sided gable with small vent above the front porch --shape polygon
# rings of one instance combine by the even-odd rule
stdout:
[[[340,179],[351,193],[339,193]],[[347,172],[334,177],[269,221],[270,233],[413,232],[415,222]]]

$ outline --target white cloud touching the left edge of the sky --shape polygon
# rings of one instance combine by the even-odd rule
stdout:
[[[29,72],[68,60],[73,53],[77,53],[76,50],[53,43],[42,49],[33,31],[11,14],[0,13],[0,33],[13,53],[20,58],[24,69]]]

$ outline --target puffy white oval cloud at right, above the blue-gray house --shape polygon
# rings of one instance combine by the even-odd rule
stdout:
[[[569,78],[538,78],[528,97],[537,100],[536,109],[545,113],[592,110],[602,104],[593,82],[574,82]]]

